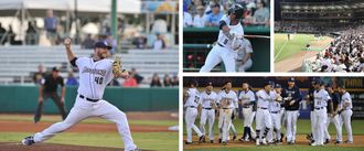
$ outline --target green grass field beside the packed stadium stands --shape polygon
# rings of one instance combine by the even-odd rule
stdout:
[[[314,40],[312,34],[291,34],[290,39],[287,40],[287,34],[275,34],[275,62],[302,51],[310,41]]]

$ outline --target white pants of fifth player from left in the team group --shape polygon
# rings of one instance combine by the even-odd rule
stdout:
[[[261,138],[264,133],[264,128],[271,129],[271,117],[268,109],[257,109],[256,115],[256,130],[260,130],[260,133],[257,133],[257,138]]]

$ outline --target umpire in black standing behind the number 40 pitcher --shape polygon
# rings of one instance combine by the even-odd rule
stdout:
[[[38,101],[38,108],[36,112],[34,115],[34,123],[39,122],[42,117],[42,108],[43,108],[43,100],[47,98],[52,98],[54,104],[58,107],[60,112],[62,115],[62,119],[66,119],[67,114],[64,107],[64,94],[65,94],[65,87],[63,77],[58,75],[58,68],[53,67],[52,74],[45,76],[40,86],[40,95],[39,95],[39,101]],[[62,94],[61,97],[57,94],[58,85],[62,87]]]

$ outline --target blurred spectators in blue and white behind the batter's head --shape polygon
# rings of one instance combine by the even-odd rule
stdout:
[[[247,9],[243,14],[244,25],[269,26],[269,0],[183,0],[183,26],[218,26],[223,14],[233,3],[239,3]]]

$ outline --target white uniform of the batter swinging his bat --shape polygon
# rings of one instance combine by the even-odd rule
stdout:
[[[225,21],[227,26],[231,29],[229,34],[243,37],[244,30],[240,23],[231,25],[228,15],[224,15],[222,21]],[[232,40],[233,37],[228,37],[227,33],[220,30],[217,44],[210,51],[205,65],[202,66],[200,73],[210,72],[221,62],[224,62],[226,72],[235,72],[235,60],[237,58],[237,53],[232,48]]]

